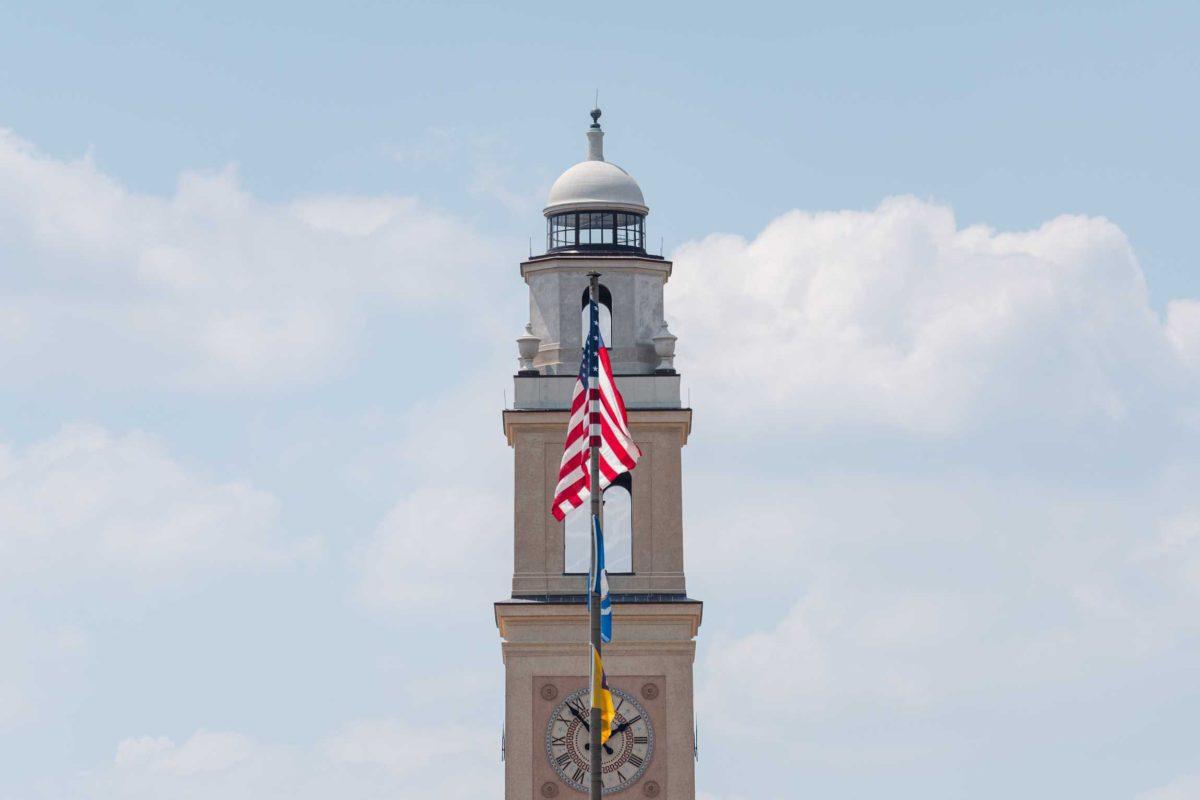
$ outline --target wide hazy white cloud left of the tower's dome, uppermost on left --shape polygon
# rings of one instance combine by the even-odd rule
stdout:
[[[233,169],[130,191],[0,131],[0,366],[10,379],[245,386],[353,359],[380,308],[457,307],[496,243],[403,197],[272,204]],[[484,303],[478,303],[485,307]],[[467,319],[469,323],[469,318]]]

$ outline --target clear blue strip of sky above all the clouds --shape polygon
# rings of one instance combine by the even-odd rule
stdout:
[[[551,4],[18,4],[6,17],[6,124],[52,154],[92,148],[146,191],[232,162],[265,198],[402,191],[536,235],[536,215],[464,191],[472,170],[536,206],[599,89],[610,143],[654,187],[672,243],[913,193],[998,227],[1120,219],[1156,293],[1189,285],[1190,4],[653,4],[599,18]],[[431,130],[462,149],[388,157],[428,152]]]

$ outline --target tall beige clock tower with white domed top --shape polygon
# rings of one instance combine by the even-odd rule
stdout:
[[[517,338],[511,597],[496,603],[505,670],[504,796],[586,798],[590,780],[587,572],[589,509],[557,522],[571,393],[586,336],[588,273],[600,273],[600,326],[642,457],[604,493],[613,639],[605,673],[617,718],[601,754],[606,795],[694,800],[692,662],[701,603],[683,570],[680,451],[691,409],[679,398],[664,318],[671,261],[646,251],[649,209],[629,173],[605,161],[600,110],[587,158],[546,203],[546,252],[521,264],[529,321]]]

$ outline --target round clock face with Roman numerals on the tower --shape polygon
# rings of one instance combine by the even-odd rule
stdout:
[[[612,690],[617,716],[612,735],[602,747],[600,780],[604,793],[632,786],[654,754],[654,726],[642,704],[619,688]],[[588,715],[592,696],[587,688],[568,694],[546,723],[546,756],[563,783],[580,792],[592,788],[592,733]]]

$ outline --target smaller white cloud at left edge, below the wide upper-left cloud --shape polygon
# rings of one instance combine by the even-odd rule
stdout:
[[[212,482],[156,439],[71,425],[24,447],[0,446],[0,571],[56,566],[139,573],[278,564],[311,553],[278,530],[278,501]]]

